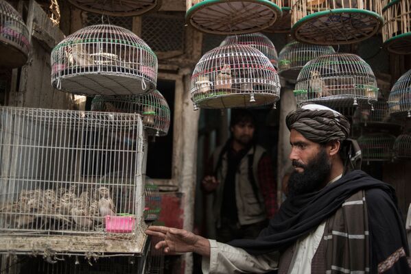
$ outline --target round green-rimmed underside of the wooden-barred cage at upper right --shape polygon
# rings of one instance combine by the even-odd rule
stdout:
[[[368,10],[327,10],[303,17],[292,27],[292,36],[316,45],[352,44],[376,34],[382,23],[381,16]]]

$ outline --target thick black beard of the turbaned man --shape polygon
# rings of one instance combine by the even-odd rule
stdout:
[[[325,149],[320,152],[307,165],[296,160],[292,161],[295,167],[301,167],[303,172],[293,171],[288,179],[288,193],[290,197],[320,190],[326,184],[326,180],[331,172],[331,162]]]

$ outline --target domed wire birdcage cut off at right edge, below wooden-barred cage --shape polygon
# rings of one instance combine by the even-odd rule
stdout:
[[[388,105],[390,115],[411,117],[411,69],[399,77],[392,86]]]

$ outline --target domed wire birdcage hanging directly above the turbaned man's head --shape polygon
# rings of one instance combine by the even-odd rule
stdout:
[[[305,64],[298,75],[297,103],[313,102],[329,107],[377,101],[377,79],[371,66],[351,53],[322,55]]]

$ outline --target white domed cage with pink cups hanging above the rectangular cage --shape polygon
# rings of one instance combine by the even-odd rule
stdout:
[[[80,95],[136,95],[156,88],[157,57],[130,30],[91,25],[51,52],[51,84]]]

